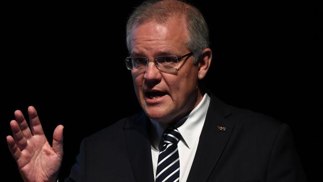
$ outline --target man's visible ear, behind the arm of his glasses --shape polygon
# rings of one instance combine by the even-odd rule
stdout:
[[[198,79],[202,80],[208,72],[212,60],[212,51],[210,48],[206,48],[202,51],[202,54],[198,61]]]

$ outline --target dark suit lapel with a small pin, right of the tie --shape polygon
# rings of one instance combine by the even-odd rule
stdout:
[[[211,95],[210,106],[187,182],[208,180],[234,129],[234,124],[226,122],[225,119],[230,114],[225,104]],[[219,131],[218,126],[226,127],[226,130]]]

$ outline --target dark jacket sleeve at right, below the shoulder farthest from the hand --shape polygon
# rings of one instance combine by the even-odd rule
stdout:
[[[292,132],[286,124],[282,124],[277,132],[266,182],[307,182],[294,146]]]

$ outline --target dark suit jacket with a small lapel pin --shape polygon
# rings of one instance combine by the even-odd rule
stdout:
[[[154,182],[149,127],[141,113],[85,138],[66,182]],[[305,181],[286,124],[211,95],[187,182]]]

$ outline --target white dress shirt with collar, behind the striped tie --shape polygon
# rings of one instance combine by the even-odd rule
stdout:
[[[179,120],[177,127],[182,138],[178,142],[179,155],[179,182],[186,182],[189,171],[191,169],[197,145],[200,139],[201,131],[206,118],[206,113],[210,104],[210,96],[205,93],[201,102],[184,118]],[[158,164],[159,144],[164,128],[158,121],[151,120],[153,127],[150,133],[152,147],[152,159],[154,168],[154,178],[156,180],[156,170]]]

